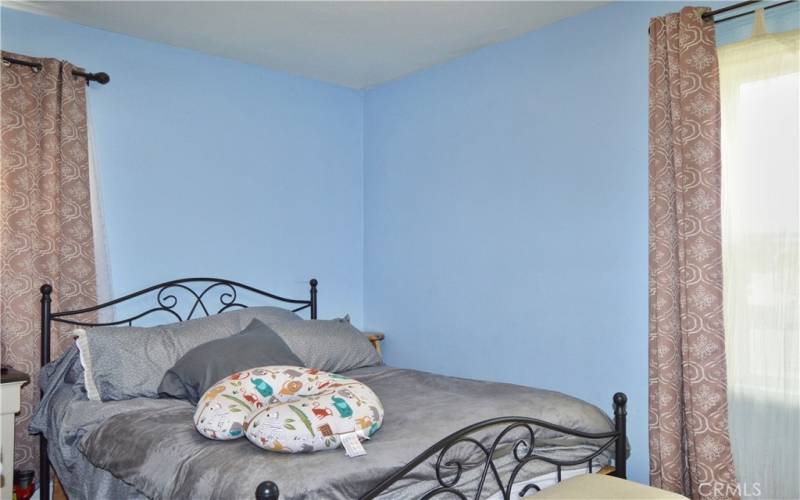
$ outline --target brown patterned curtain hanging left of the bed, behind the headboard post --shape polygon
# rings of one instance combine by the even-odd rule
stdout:
[[[14,464],[37,469],[38,441],[27,432],[39,399],[39,287],[55,288],[53,307],[96,300],[86,83],[73,66],[34,59],[41,70],[2,66],[0,175],[0,332],[4,364],[31,375],[16,420]],[[53,331],[53,355],[70,343]]]

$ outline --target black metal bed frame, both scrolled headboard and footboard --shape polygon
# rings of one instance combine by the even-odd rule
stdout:
[[[195,290],[189,286],[191,284],[203,284],[204,288]],[[167,313],[174,317],[177,321],[186,321],[192,319],[196,313],[199,314],[199,311],[202,311],[205,316],[210,316],[211,314],[219,314],[231,308],[248,307],[239,301],[238,290],[245,290],[279,302],[297,304],[298,307],[292,309],[294,312],[308,309],[310,318],[317,319],[317,280],[312,279],[309,281],[309,285],[310,293],[308,299],[289,299],[236,281],[218,278],[186,278],[153,285],[118,299],[104,302],[92,307],[71,311],[52,312],[51,304],[53,287],[49,284],[45,284],[42,285],[40,289],[42,293],[41,365],[44,366],[50,362],[50,333],[53,322],[67,323],[76,326],[132,326],[134,321],[156,313]],[[121,320],[99,322],[70,319],[72,316],[80,316],[82,314],[113,307],[117,304],[121,304],[150,293],[155,294],[156,304],[154,306]],[[181,294],[188,296],[188,300],[190,301],[189,305],[187,306],[188,313],[184,315],[182,315],[178,309],[178,305],[180,303],[178,296]],[[215,312],[209,312],[210,306],[205,301],[213,297],[216,297],[216,299],[219,301],[219,305]],[[471,470],[476,470],[474,467],[480,467],[480,469],[477,469],[481,471],[481,474],[479,476],[477,491],[474,494],[474,498],[476,500],[480,498],[483,488],[487,482],[487,477],[489,476],[491,476],[489,480],[494,480],[495,485],[502,493],[503,498],[505,500],[510,500],[515,480],[528,463],[539,460],[556,466],[557,482],[561,482],[562,469],[564,467],[575,467],[581,464],[587,464],[588,472],[593,472],[593,460],[601,454],[609,451],[612,445],[614,446],[614,470],[611,472],[611,475],[624,479],[627,475],[627,401],[628,398],[625,396],[625,394],[621,392],[614,394],[614,430],[610,432],[584,432],[528,417],[498,417],[477,422],[450,434],[424,452],[420,453],[416,458],[411,460],[400,470],[383,479],[371,490],[362,495],[360,500],[371,500],[387,492],[389,488],[391,488],[398,481],[406,478],[417,467],[425,463],[430,463],[431,461],[435,461],[434,473],[438,486],[433,487],[433,489],[423,495],[423,500],[445,494],[466,500],[467,495],[459,490],[458,483],[463,476],[462,473],[467,469],[467,467],[469,467]],[[485,433],[493,428],[499,428],[499,432],[496,434],[493,440],[489,439],[489,441],[487,441]],[[559,460],[548,456],[546,453],[537,453],[537,449],[535,447],[537,429],[547,429],[565,436],[575,436],[602,442],[598,443],[596,450],[583,457],[580,457],[579,459]],[[513,438],[511,433],[514,432],[521,432],[522,436]],[[478,433],[484,433],[483,439],[476,437]],[[507,480],[504,481],[500,477],[500,473],[497,470],[494,460],[495,452],[499,448],[507,445],[509,440],[513,441],[511,450],[516,464],[514,465],[514,468],[512,469]],[[474,447],[474,449],[481,454],[479,456],[482,456],[482,462],[477,465],[473,464],[468,466],[462,461],[462,459],[458,457],[448,459],[448,452],[455,449],[459,445]],[[44,437],[44,435],[40,435],[39,453],[39,491],[49,492],[50,460],[47,453],[47,439]],[[524,496],[530,489],[538,491],[540,488],[534,483],[529,483],[522,489],[520,496]],[[256,488],[256,500],[278,500],[279,496],[280,492],[278,485],[273,481],[264,481]]]

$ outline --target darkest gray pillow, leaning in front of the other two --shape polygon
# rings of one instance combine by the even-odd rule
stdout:
[[[158,394],[197,404],[209,387],[236,372],[257,366],[303,366],[270,327],[254,319],[241,332],[201,344],[167,370]]]

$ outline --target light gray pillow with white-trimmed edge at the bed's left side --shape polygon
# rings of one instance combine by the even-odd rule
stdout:
[[[238,333],[253,319],[266,325],[300,321],[279,307],[251,307],[169,325],[75,330],[87,397],[112,401],[158,397],[164,373],[200,344]]]

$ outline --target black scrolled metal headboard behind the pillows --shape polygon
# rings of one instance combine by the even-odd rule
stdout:
[[[195,289],[191,286],[192,284],[202,284],[202,286]],[[205,316],[211,316],[233,308],[247,308],[248,306],[245,305],[239,298],[241,291],[247,291],[278,302],[295,304],[297,307],[292,309],[293,312],[308,309],[310,318],[317,319],[317,280],[312,279],[308,282],[308,284],[311,287],[308,299],[289,299],[274,293],[259,290],[258,288],[254,288],[237,281],[219,278],[184,278],[159,283],[158,285],[153,285],[137,292],[129,293],[128,295],[118,299],[110,300],[95,306],[59,312],[52,312],[50,310],[52,304],[53,287],[49,284],[44,284],[40,288],[40,291],[42,292],[41,366],[44,366],[50,362],[50,329],[54,321],[79,326],[133,326],[133,322],[139,319],[157,313],[166,313],[180,322],[190,320],[196,317],[196,315],[199,316],[200,311],[202,311]],[[74,316],[80,316],[82,314],[108,309],[117,304],[122,304],[123,302],[128,302],[147,294],[155,295],[155,304],[146,307],[144,311],[132,314],[124,319],[107,322],[81,321],[79,319],[72,319]],[[185,314],[181,314],[179,304],[182,304],[182,302],[178,297],[186,297],[189,301],[186,306],[188,312]],[[219,304],[209,303],[209,301],[214,301],[214,299],[216,299]],[[39,484],[39,491],[49,491],[50,460],[47,456],[47,439],[44,437],[44,435],[40,436],[39,441]]]

